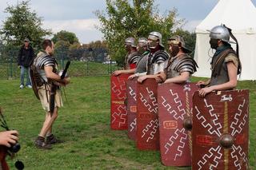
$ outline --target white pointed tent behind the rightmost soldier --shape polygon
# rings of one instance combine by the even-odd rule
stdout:
[[[194,59],[198,62],[197,77],[210,77],[209,32],[214,26],[225,24],[238,39],[242,62],[240,80],[256,80],[256,8],[250,0],[219,0],[208,16],[196,27],[197,42]],[[232,42],[234,40],[230,38]],[[234,49],[235,45],[232,45]]]

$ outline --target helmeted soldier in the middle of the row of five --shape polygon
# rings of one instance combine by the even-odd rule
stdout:
[[[148,37],[148,43],[150,53],[148,54],[146,75],[138,78],[138,82],[140,83],[147,78],[156,78],[155,74],[163,71],[164,62],[169,58],[169,54],[166,53],[162,45],[162,34],[155,31],[151,32]]]

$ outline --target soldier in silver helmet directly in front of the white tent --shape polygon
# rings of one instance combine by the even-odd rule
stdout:
[[[210,30],[210,47],[216,49],[212,57],[211,77],[209,81],[198,81],[198,86],[202,87],[199,91],[201,97],[214,90],[234,89],[237,85],[237,76],[241,73],[241,63],[237,52],[232,49],[230,36],[238,42],[231,30],[226,26],[215,26]]]

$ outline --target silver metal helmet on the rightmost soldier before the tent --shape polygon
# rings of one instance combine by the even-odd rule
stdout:
[[[213,39],[219,39],[222,40],[223,42],[229,42],[229,43],[234,43],[235,42],[230,42],[230,32],[227,30],[225,26],[214,26],[212,30],[210,30],[210,38]]]

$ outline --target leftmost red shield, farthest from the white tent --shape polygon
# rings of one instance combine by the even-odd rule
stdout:
[[[126,113],[126,81],[130,74],[111,76],[111,113],[110,128],[114,130],[127,129]]]

